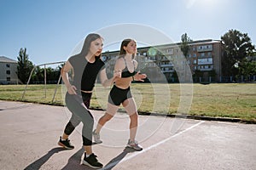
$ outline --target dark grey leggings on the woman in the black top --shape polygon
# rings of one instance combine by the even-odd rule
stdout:
[[[83,98],[81,95],[66,94],[66,105],[68,110],[72,112],[72,116],[65,127],[64,133],[70,135],[73,133],[75,127],[77,127],[80,122],[83,122],[82,138],[84,145],[92,144],[94,119],[88,110],[90,106],[90,97],[91,94],[83,94]]]

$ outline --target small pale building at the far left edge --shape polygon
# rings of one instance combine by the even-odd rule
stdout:
[[[0,56],[0,84],[16,84],[17,61]]]

